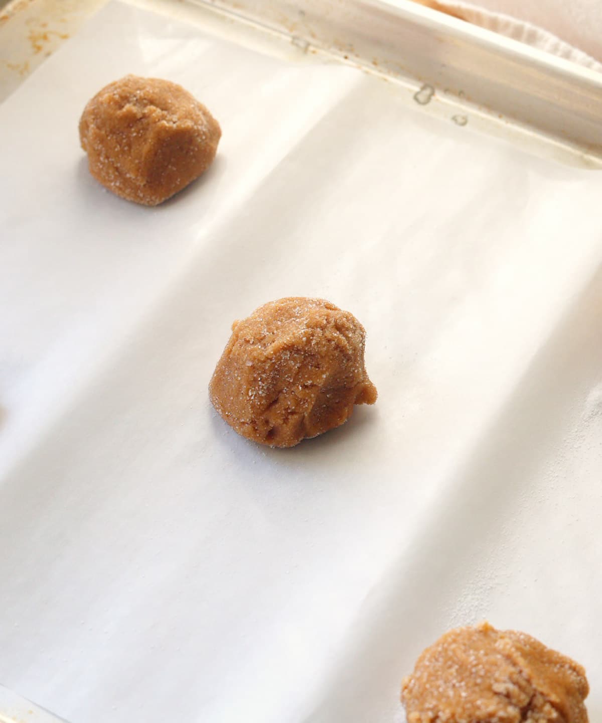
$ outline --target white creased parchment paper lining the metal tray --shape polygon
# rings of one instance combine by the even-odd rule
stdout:
[[[0,107],[0,681],[74,723],[385,722],[487,617],[585,664],[595,720],[602,176],[301,58],[112,3]],[[78,147],[127,72],[223,127],[156,209]],[[293,294],[361,320],[379,401],[262,449],[207,383]]]

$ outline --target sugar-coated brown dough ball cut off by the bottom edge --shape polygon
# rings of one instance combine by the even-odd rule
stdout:
[[[585,670],[515,630],[450,630],[403,681],[408,723],[588,723]]]

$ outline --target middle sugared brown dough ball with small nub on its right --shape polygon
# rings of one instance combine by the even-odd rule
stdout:
[[[271,301],[232,325],[210,383],[213,406],[239,435],[293,447],[374,404],[364,327],[323,299]]]

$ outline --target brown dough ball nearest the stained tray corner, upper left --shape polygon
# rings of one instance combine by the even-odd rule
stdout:
[[[211,165],[221,130],[181,85],[126,75],[103,87],[79,120],[90,173],[129,201],[155,206]]]

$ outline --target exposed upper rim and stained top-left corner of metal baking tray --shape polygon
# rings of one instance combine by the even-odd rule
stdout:
[[[9,3],[0,14],[0,100],[106,1]],[[602,165],[601,74],[409,0],[131,2],[221,26],[238,40],[252,36],[270,45],[279,35],[304,52],[336,56],[405,85],[430,114],[460,124],[470,117],[477,129],[512,134],[535,153]]]

